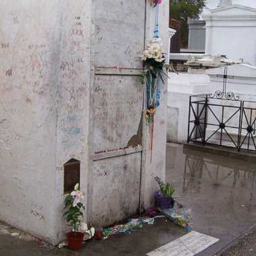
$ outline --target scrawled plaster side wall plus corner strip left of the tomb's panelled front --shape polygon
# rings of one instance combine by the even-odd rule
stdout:
[[[86,166],[90,1],[0,10],[0,219],[57,243],[63,164]]]

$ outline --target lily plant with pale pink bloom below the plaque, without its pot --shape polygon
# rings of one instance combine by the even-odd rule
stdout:
[[[74,191],[65,197],[65,207],[63,209],[65,213],[63,216],[68,226],[73,227],[74,232],[81,226],[81,218],[84,216],[82,210],[85,210],[85,206],[82,199],[84,199],[84,194],[79,191],[79,184],[75,185]]]

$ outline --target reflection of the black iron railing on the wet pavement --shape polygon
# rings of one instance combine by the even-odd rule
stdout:
[[[179,181],[183,197],[223,195],[228,201],[247,201],[245,206],[251,207],[256,187],[255,163],[191,148],[183,150],[183,146],[175,144],[168,145],[167,154],[166,179]]]

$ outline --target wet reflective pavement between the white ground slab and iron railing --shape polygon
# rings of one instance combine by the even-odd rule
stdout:
[[[192,209],[194,230],[220,239],[199,255],[216,254],[255,226],[255,163],[175,144],[167,151],[166,180],[177,182],[177,194]]]

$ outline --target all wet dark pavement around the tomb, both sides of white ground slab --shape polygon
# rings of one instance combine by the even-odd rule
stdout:
[[[253,228],[256,224],[255,163],[193,149],[183,150],[178,144],[168,144],[166,157],[166,181],[175,181],[179,201],[191,207],[193,229],[220,239],[200,256],[219,253]],[[0,232],[0,255],[141,256],[183,234],[185,232],[170,221],[158,219],[154,226],[144,225],[132,234],[106,241],[91,241],[82,251],[75,252],[53,249]]]

